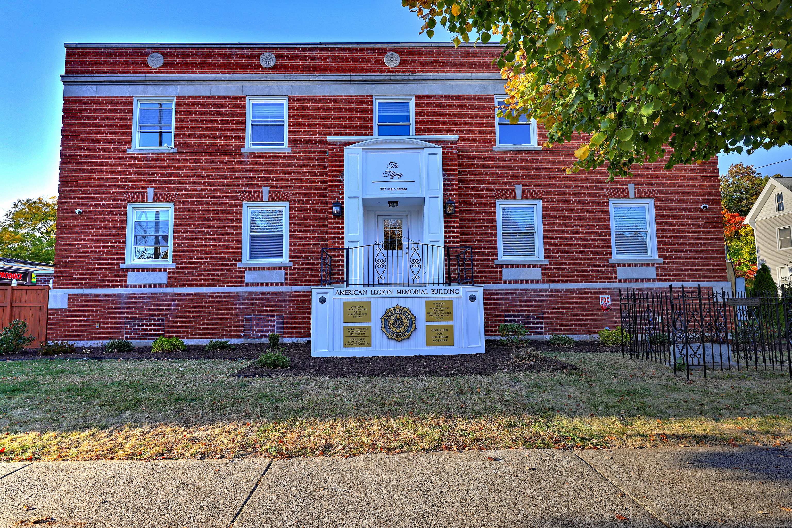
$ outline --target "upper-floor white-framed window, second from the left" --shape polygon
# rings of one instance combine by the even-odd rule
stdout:
[[[249,149],[288,146],[288,97],[248,97],[245,146]]]

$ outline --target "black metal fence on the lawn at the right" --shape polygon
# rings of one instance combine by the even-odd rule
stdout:
[[[622,355],[691,369],[787,370],[792,378],[792,291],[729,296],[711,288],[619,290]]]

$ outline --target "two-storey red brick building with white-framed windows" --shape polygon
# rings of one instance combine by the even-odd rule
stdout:
[[[323,248],[420,246],[418,283],[470,284],[472,261],[486,336],[613,327],[620,287],[729,289],[717,162],[567,175],[579,142],[498,122],[498,53],[67,44],[50,339],[306,339],[311,287],[372,283],[344,250],[323,276]],[[404,266],[379,284],[416,284]]]

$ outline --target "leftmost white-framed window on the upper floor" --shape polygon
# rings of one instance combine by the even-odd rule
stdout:
[[[135,97],[133,149],[173,148],[175,97]]]

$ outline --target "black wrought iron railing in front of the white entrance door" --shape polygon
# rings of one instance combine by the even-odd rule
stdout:
[[[322,248],[319,285],[345,287],[474,284],[473,248],[387,241]]]

